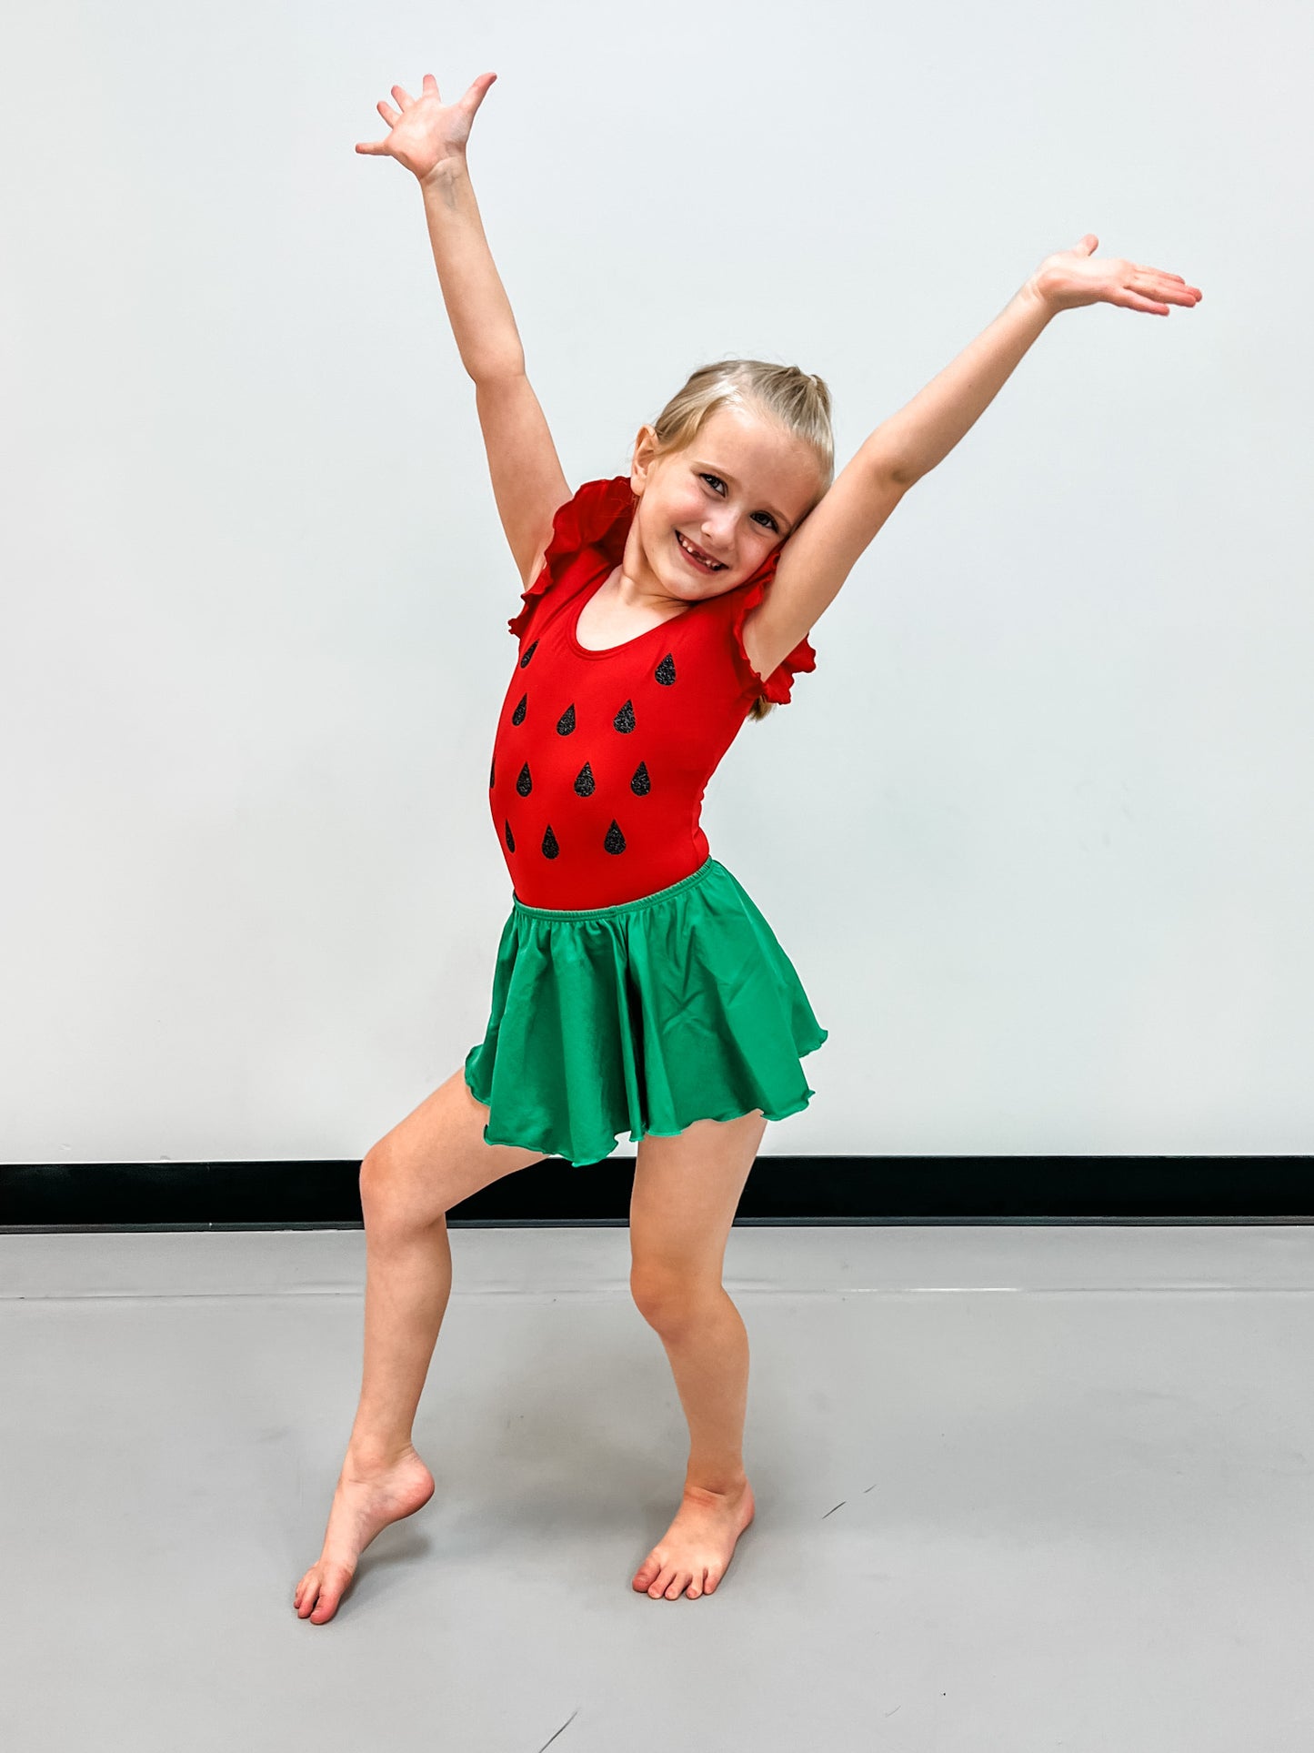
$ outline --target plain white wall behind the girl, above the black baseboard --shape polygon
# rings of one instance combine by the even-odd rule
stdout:
[[[520,584],[419,188],[354,151],[394,81],[484,70],[573,486],[736,352],[827,379],[843,466],[1088,230],[1204,289],[1046,330],[704,826],[830,1029],[767,1152],[1314,1148],[1312,35],[1295,0],[11,19],[4,1160],[354,1157],[484,1033]]]

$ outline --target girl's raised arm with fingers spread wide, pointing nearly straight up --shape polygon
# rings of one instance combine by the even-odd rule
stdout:
[[[443,103],[433,74],[419,98],[401,86],[394,109],[380,100],[385,140],[357,142],[357,153],[396,158],[420,184],[447,316],[461,363],[475,384],[475,407],[489,458],[492,496],[526,586],[552,538],[552,514],[571,489],[543,408],[524,370],[524,347],[506,289],[484,235],[466,165],[466,142],[496,74],[480,74],[459,103]]]

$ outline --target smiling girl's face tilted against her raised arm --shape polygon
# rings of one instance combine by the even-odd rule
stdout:
[[[624,570],[653,594],[697,601],[750,578],[806,517],[820,489],[816,458],[799,438],[743,408],[717,408],[689,451],[652,459],[639,429],[631,486],[641,494]],[[690,556],[680,538],[717,566]]]

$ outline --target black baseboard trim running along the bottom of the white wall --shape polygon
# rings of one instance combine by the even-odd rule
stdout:
[[[1314,1157],[759,1157],[736,1224],[1309,1224]],[[0,1234],[361,1227],[359,1162],[0,1164]],[[449,1224],[629,1222],[634,1157],[557,1157]]]

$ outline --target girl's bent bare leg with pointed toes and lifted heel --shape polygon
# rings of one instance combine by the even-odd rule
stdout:
[[[389,1522],[433,1497],[410,1439],[447,1299],[447,1211],[480,1187],[541,1162],[536,1150],[485,1145],[489,1110],[456,1071],[364,1155],[364,1373],[324,1548],[296,1586],[300,1618],[338,1611],[356,1564]]]

